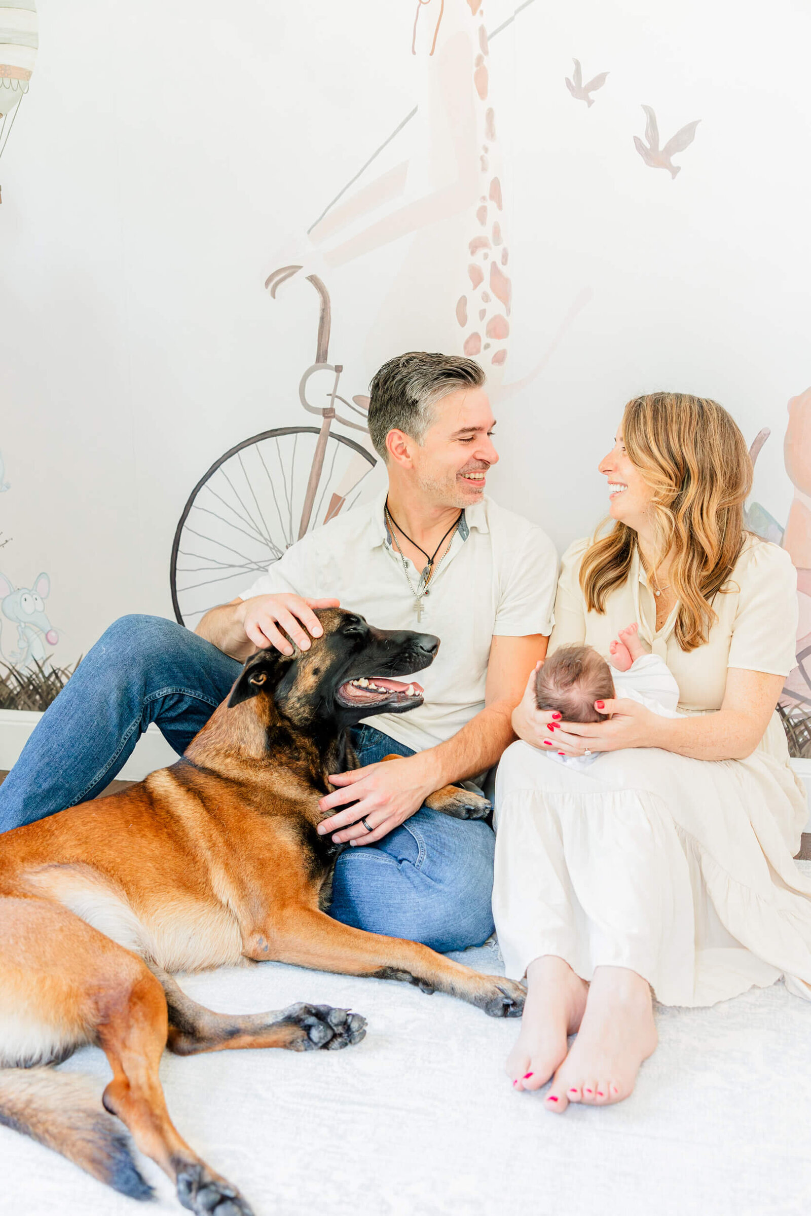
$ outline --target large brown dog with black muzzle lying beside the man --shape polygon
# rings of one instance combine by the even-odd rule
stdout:
[[[34,1066],[98,1043],[113,1070],[103,1105],[199,1216],[250,1210],[173,1126],[158,1080],[164,1047],[333,1049],[359,1042],[366,1023],[328,1006],[215,1014],[169,972],[277,959],[405,980],[494,1017],[523,1006],[511,980],[322,911],[340,846],[316,832],[319,799],[330,773],[357,764],[348,727],[421,704],[418,685],[389,677],[428,666],[439,642],[339,609],[319,615],[323,637],[306,653],[246,663],[170,769],[0,837],[0,1122],[148,1198],[126,1137],[81,1079]],[[463,818],[489,810],[456,787],[429,805]]]

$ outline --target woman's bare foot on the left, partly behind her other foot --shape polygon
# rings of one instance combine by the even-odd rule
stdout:
[[[568,1036],[580,1025],[588,985],[557,955],[526,968],[526,1002],[518,1041],[507,1057],[516,1090],[540,1090],[565,1059]]]

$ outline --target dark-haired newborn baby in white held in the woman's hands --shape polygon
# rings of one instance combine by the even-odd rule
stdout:
[[[557,710],[564,722],[602,722],[609,714],[595,709],[596,700],[627,697],[663,717],[680,717],[678,685],[664,659],[648,654],[638,625],[619,631],[609,646],[610,665],[591,646],[562,646],[535,677],[539,709]],[[563,764],[588,765],[599,755],[561,756]]]

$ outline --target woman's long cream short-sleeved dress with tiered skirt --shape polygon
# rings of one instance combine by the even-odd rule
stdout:
[[[608,657],[640,636],[680,687],[682,714],[720,709],[727,668],[785,676],[794,666],[796,575],[788,553],[748,537],[709,641],[685,653],[677,607],[655,630],[638,558],[606,613],[585,609],[587,540],[563,558],[550,649]],[[496,779],[494,917],[507,975],[558,955],[590,980],[627,967],[664,1004],[705,1006],[785,975],[811,998],[811,883],[793,856],[807,817],[777,714],[747,760],[691,760],[658,748],[608,751],[587,770],[513,743]]]

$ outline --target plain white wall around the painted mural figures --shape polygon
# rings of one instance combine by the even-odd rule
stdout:
[[[485,28],[514,7],[484,0]],[[399,349],[462,349],[454,309],[478,185],[441,202],[464,178],[441,109],[462,77],[441,72],[452,38],[477,52],[480,15],[446,0],[432,57],[438,0],[412,55],[415,9],[41,0],[30,94],[0,162],[0,570],[16,585],[50,574],[55,659],[122,613],[171,615],[169,548],[191,486],[240,439],[310,421],[297,385],[315,299],[297,278],[271,300],[271,270],[295,258],[327,281],[350,393]],[[625,400],[655,388],[717,398],[748,439],[772,427],[756,497],[785,520],[785,405],[811,381],[810,35],[792,0],[767,15],[535,0],[491,41],[489,154],[513,281],[508,358],[491,368],[492,492],[561,546],[602,513],[593,466]],[[590,108],[564,85],[573,56],[586,79],[609,71]],[[702,120],[675,180],[633,147],[642,103],[663,142]],[[398,165],[401,193],[308,241],[415,105],[343,202]],[[374,247],[340,253],[374,225]]]

